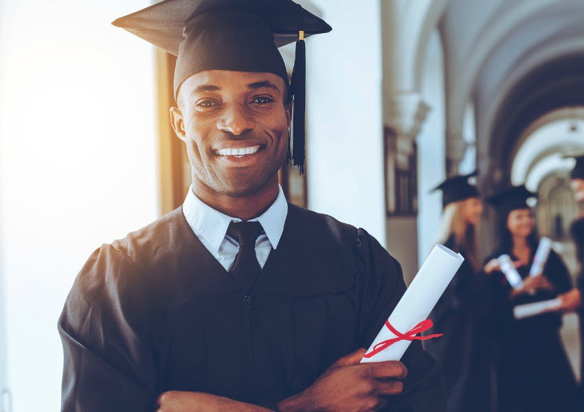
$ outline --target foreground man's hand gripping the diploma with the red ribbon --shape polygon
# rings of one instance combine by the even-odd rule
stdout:
[[[333,363],[306,390],[282,400],[278,410],[288,411],[377,411],[388,403],[388,395],[403,390],[407,369],[398,361],[359,363],[359,349]]]

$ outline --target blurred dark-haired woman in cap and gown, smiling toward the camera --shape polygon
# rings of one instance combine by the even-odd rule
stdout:
[[[539,243],[527,199],[535,194],[524,185],[488,198],[499,211],[499,247],[484,266],[490,276],[491,316],[497,336],[499,412],[576,411],[576,382],[560,341],[561,315],[547,312],[517,320],[513,307],[557,297],[572,287],[557,253],[550,251],[539,276],[529,276]],[[512,288],[497,257],[509,255],[523,279]]]

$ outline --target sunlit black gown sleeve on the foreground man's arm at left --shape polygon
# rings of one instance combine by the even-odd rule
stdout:
[[[93,252],[58,320],[61,411],[153,411],[157,369],[136,265],[111,245]]]

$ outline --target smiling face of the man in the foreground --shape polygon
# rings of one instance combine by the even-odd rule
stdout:
[[[284,80],[272,73],[211,70],[185,80],[170,112],[193,182],[229,197],[273,182],[288,152],[285,99]]]

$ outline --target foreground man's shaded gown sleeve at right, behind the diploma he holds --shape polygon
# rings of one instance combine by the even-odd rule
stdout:
[[[401,266],[363,229],[358,232],[363,264],[361,294],[361,347],[368,348],[405,292]],[[388,411],[446,411],[446,384],[442,370],[432,356],[413,341],[401,362],[407,367],[403,392],[390,400]]]

